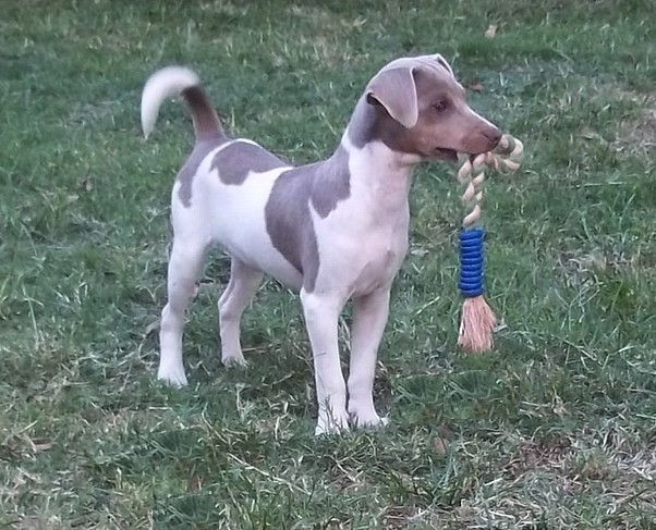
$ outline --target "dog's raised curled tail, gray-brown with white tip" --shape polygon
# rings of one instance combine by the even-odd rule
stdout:
[[[163,100],[178,95],[182,95],[191,111],[196,141],[226,136],[198,75],[185,66],[167,66],[155,72],[144,85],[142,130],[146,138],[155,128]]]

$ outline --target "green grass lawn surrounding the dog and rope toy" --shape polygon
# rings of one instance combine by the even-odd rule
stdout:
[[[651,1],[1,3],[0,528],[656,528]],[[143,139],[147,76],[192,65],[233,134],[304,162],[382,64],[427,52],[526,146],[485,192],[495,350],[455,346],[460,190],[436,162],[380,352],[387,429],[314,437],[299,299],[271,281],[243,322],[251,367],[220,365],[219,251],[190,386],[158,384],[193,139],[181,104]]]

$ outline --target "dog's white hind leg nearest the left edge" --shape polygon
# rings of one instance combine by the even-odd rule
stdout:
[[[207,243],[173,238],[167,279],[168,301],[161,311],[158,379],[175,386],[186,384],[182,365],[184,311],[196,293],[196,280]]]

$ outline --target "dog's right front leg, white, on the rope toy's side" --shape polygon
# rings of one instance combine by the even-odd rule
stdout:
[[[353,300],[351,361],[349,371],[349,415],[357,427],[387,424],[374,408],[374,378],[378,345],[389,313],[389,286]]]

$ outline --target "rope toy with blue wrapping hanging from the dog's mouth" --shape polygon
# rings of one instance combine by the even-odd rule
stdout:
[[[467,352],[486,352],[494,345],[493,331],[497,318],[483,297],[485,231],[481,227],[481,201],[485,168],[496,171],[517,171],[524,151],[522,143],[503,135],[491,151],[467,158],[458,171],[458,182],[466,185],[462,202],[467,213],[460,230],[460,280],[458,287],[464,296],[458,345]]]

